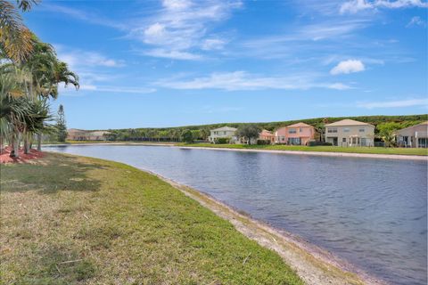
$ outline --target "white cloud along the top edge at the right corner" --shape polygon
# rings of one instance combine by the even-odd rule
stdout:
[[[422,2],[421,0],[351,0],[341,5],[340,12],[356,13],[376,8],[398,9],[407,7],[427,8],[428,4],[426,2]]]

